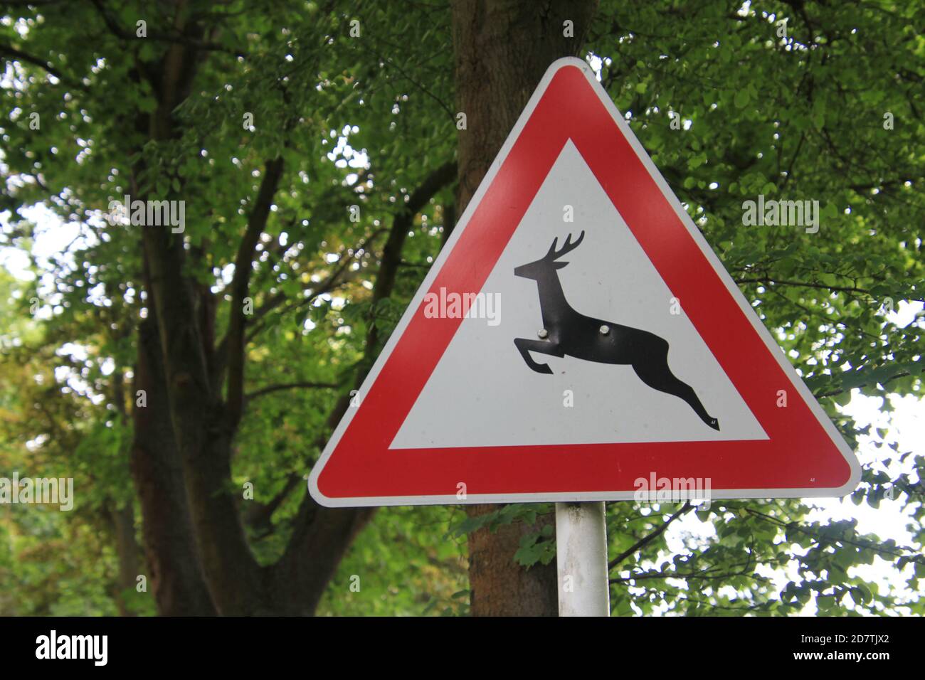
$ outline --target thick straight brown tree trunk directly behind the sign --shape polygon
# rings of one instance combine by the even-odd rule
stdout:
[[[465,209],[498,154],[530,94],[561,56],[579,54],[597,0],[454,0],[453,50],[459,133],[457,205]],[[573,37],[566,33],[571,21]],[[469,506],[478,515],[496,506]],[[546,521],[551,521],[547,518]],[[469,581],[474,616],[558,613],[555,563],[524,569],[513,554],[534,527],[481,529],[469,537]]]

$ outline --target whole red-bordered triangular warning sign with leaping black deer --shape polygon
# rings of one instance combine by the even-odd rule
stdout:
[[[852,451],[585,62],[556,61],[309,477],[329,506],[841,496]],[[672,487],[674,488],[674,483]]]

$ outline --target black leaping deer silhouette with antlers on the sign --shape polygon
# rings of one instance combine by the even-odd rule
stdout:
[[[579,314],[565,299],[557,270],[569,263],[559,262],[559,258],[571,253],[584,238],[584,231],[574,242],[569,234],[558,250],[556,245],[559,239],[554,239],[548,253],[536,262],[514,269],[515,276],[536,280],[543,315],[540,340],[514,339],[514,345],[524,357],[526,365],[536,373],[552,373],[549,364],[537,364],[530,352],[558,357],[573,356],[598,364],[632,365],[635,374],[648,387],[680,397],[704,423],[719,430],[719,422],[707,413],[694,389],[672,374],[668,367],[667,340],[648,330]]]

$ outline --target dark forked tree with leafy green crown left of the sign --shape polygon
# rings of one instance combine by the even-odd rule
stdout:
[[[302,465],[277,476],[274,494],[250,513],[232,484],[233,442],[250,403],[277,389],[326,390],[314,407],[328,411],[328,427],[339,420],[376,355],[375,316],[351,324],[339,368],[274,385],[246,377],[260,334],[294,315],[307,324],[312,305],[334,293],[351,291],[376,311],[395,286],[414,216],[432,213],[431,199],[455,175],[446,145],[439,158],[432,146],[425,155],[394,142],[388,112],[404,93],[401,64],[389,60],[384,75],[385,63],[360,47],[361,31],[376,43],[376,27],[411,23],[385,6],[366,12],[364,26],[333,4],[305,3],[214,11],[202,2],[94,1],[67,12],[24,6],[20,16],[25,35],[9,31],[4,48],[19,82],[9,96],[17,138],[5,162],[24,181],[7,204],[44,197],[62,218],[80,221],[84,241],[68,254],[82,262],[58,269],[62,306],[114,307],[121,337],[135,337],[135,358],[117,356],[105,391],[119,413],[134,404],[131,469],[158,609],[313,612],[371,512],[321,508],[298,483],[327,438],[324,421],[303,443]],[[75,23],[93,40],[71,31]],[[425,35],[419,44],[435,46]],[[59,60],[67,75],[52,65]],[[25,111],[38,115],[38,128],[19,119]],[[357,124],[364,132],[354,137]],[[339,135],[357,151],[369,144],[368,166],[342,167],[343,144],[330,150]],[[375,160],[385,148],[394,167]],[[315,160],[326,152],[337,162]],[[106,224],[101,213],[123,194],[176,202],[186,224]],[[380,247],[367,293],[351,278]],[[335,332],[348,329],[337,319]],[[296,488],[285,545],[255,554],[245,523],[267,525]]]

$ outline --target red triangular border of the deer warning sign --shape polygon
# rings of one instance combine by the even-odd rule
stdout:
[[[478,292],[568,140],[607,192],[769,439],[391,450],[459,328],[427,291]],[[778,390],[788,404],[779,408]],[[555,62],[314,466],[328,506],[633,498],[639,478],[709,477],[712,498],[839,496],[854,454],[578,59]],[[452,408],[453,404],[447,404]],[[461,416],[462,417],[462,416]],[[465,485],[466,497],[457,493]]]

